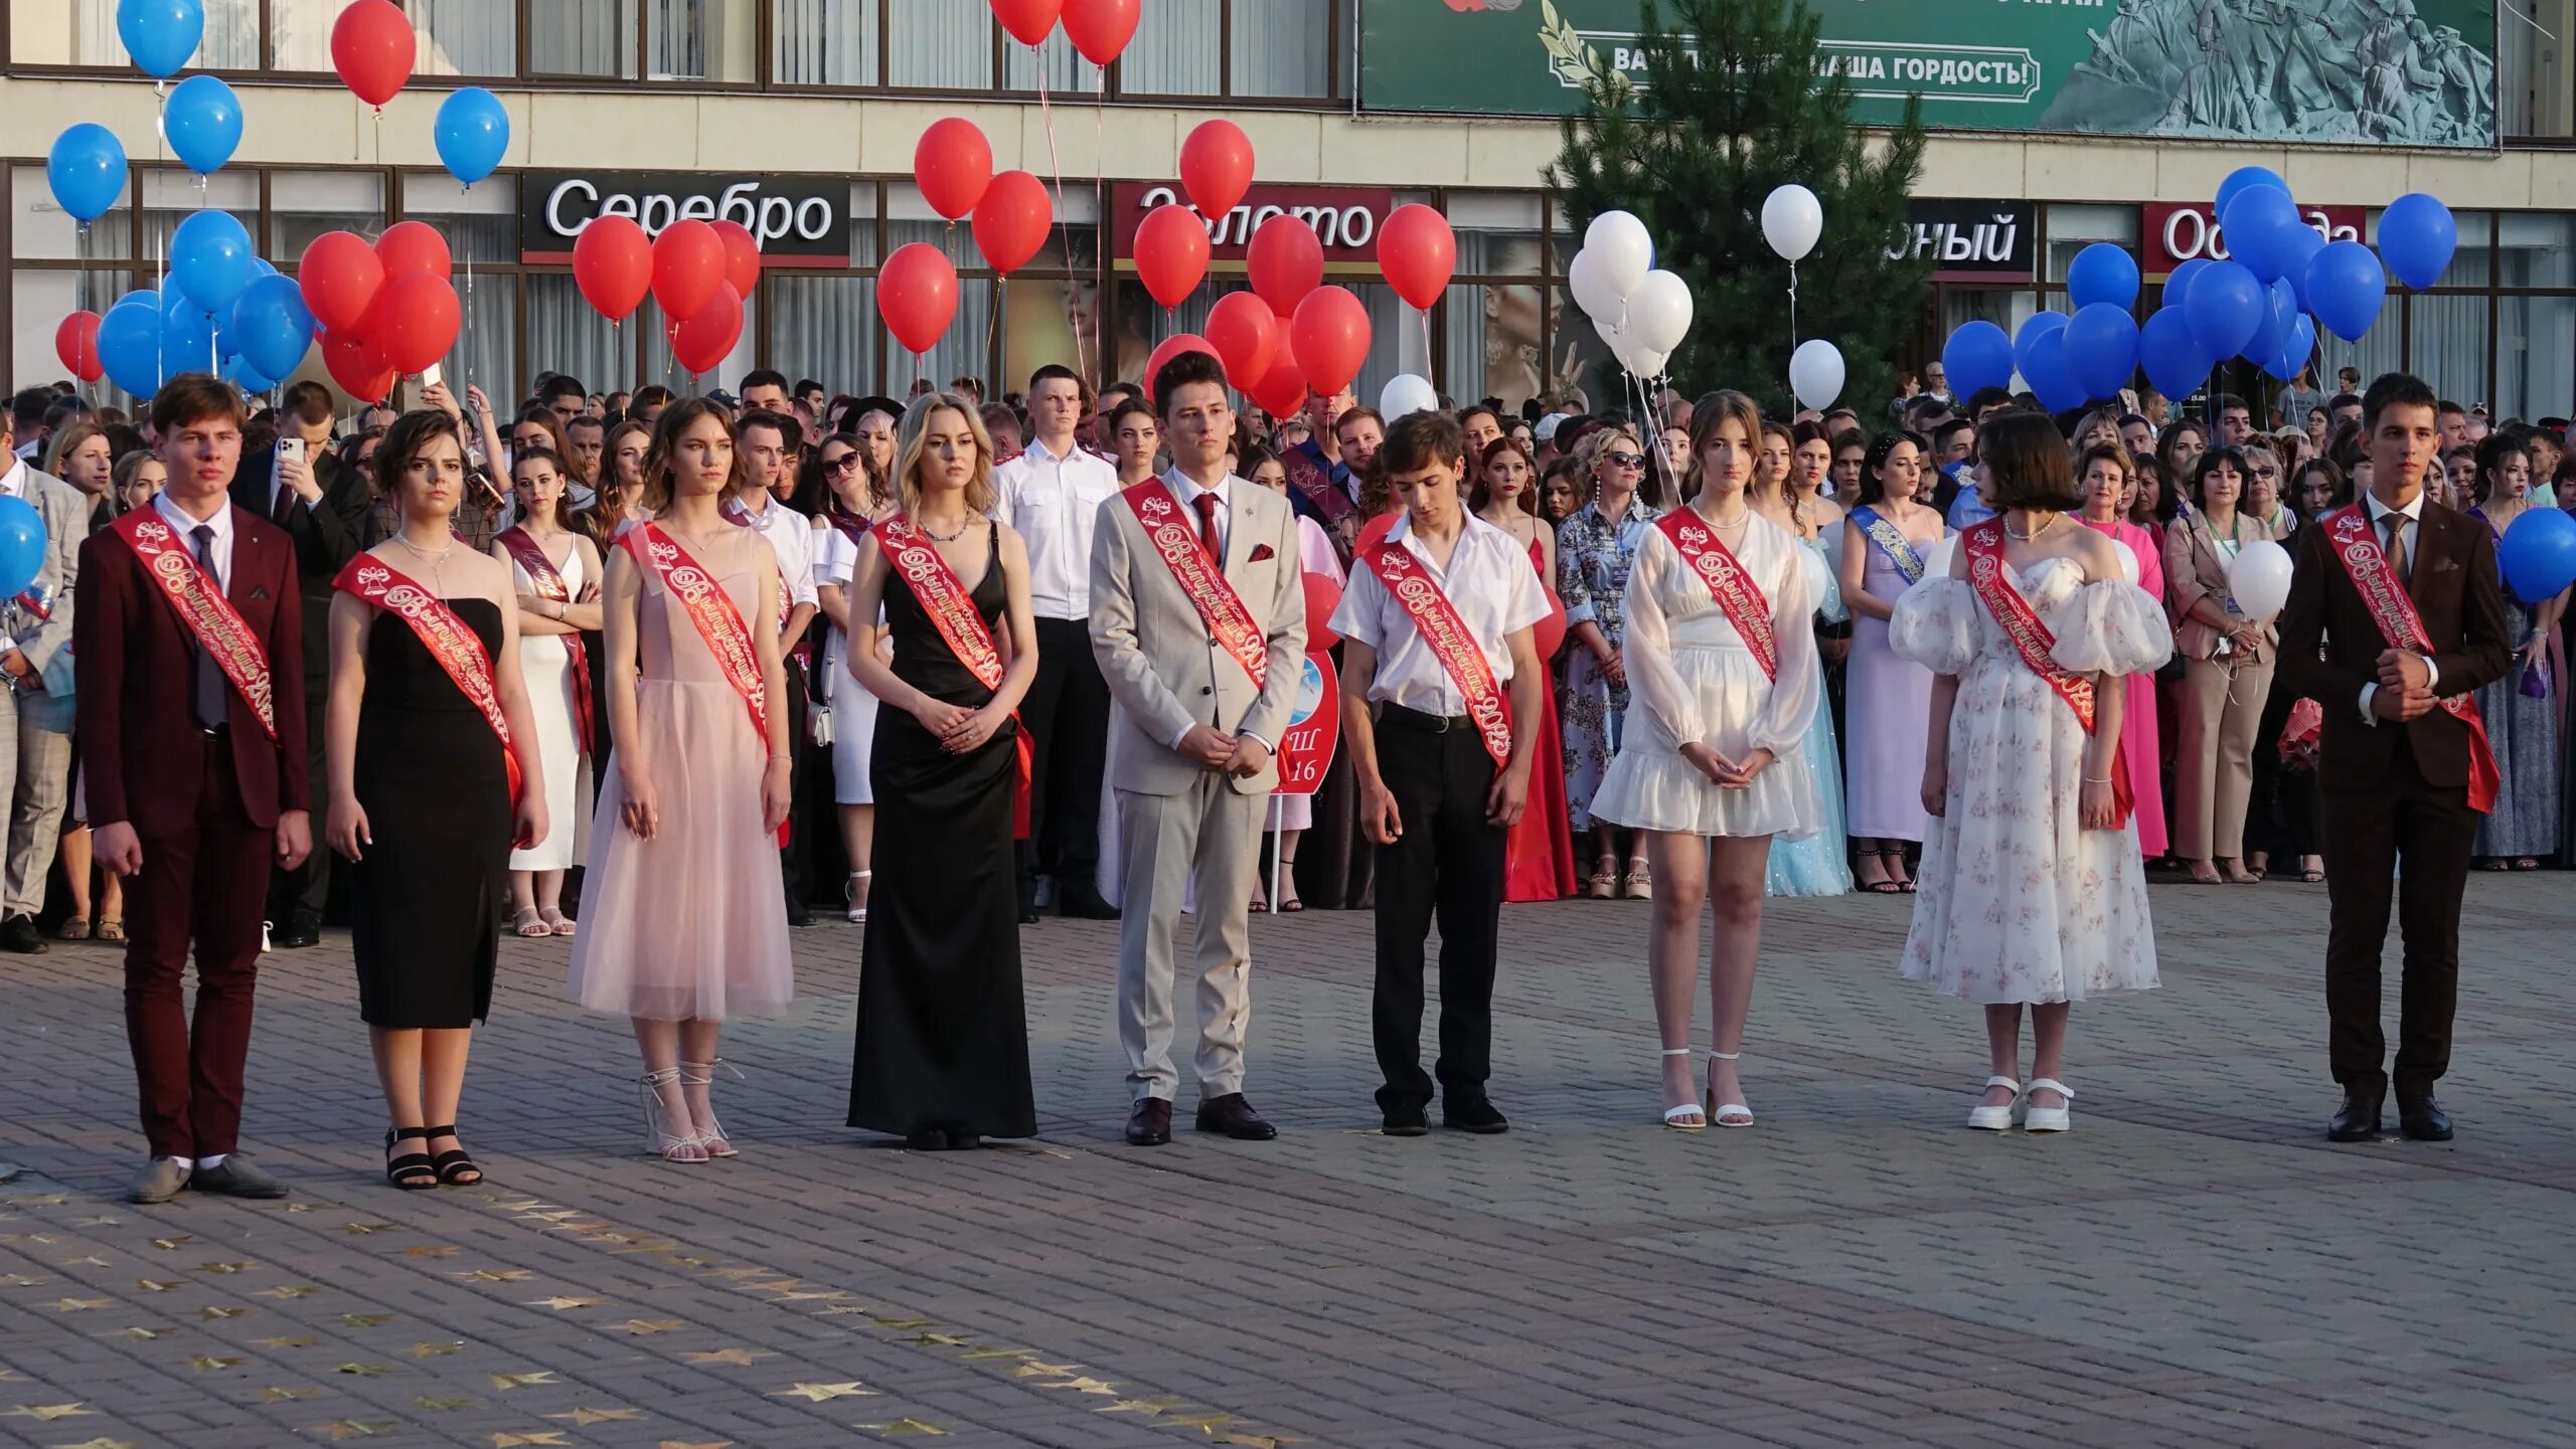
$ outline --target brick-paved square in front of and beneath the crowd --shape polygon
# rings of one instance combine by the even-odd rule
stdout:
[[[1260,919],[1267,1145],[1118,1140],[1113,929],[1028,932],[1036,1143],[840,1127],[858,932],[742,1024],[744,1156],[641,1158],[623,1022],[505,945],[466,1135],[379,1174],[348,942],[270,957],[289,1204],[116,1199],[108,947],[0,960],[0,1441],[791,1449],[2576,1441],[2566,875],[2476,878],[2450,1145],[2329,1148],[2324,893],[2154,893],[2166,988],[2076,1014],[2076,1130],[1960,1130],[1976,1014],[1901,901],[1775,903],[1752,1132],[1656,1127],[1643,906],[1507,911],[1507,1138],[1368,1132],[1368,919]],[[2391,991],[2393,1009],[2393,991]],[[1705,1006],[1703,1006],[1705,1011]],[[1188,1102],[1182,1102],[1188,1112]]]

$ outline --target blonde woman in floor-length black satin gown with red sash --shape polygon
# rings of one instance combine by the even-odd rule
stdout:
[[[1038,1130],[1012,860],[1012,710],[1038,672],[1028,551],[984,517],[994,504],[992,443],[963,399],[912,404],[896,479],[902,520],[971,600],[1002,677],[976,679],[871,535],[850,610],[868,618],[884,602],[894,659],[853,654],[850,674],[881,700],[868,780],[889,849],[868,893],[850,1125],[899,1132],[922,1150],[974,1148]]]

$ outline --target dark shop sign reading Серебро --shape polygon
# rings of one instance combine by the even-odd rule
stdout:
[[[778,268],[850,265],[850,183],[824,175],[665,170],[536,170],[518,183],[518,260],[572,263],[572,242],[600,216],[659,237],[672,221],[739,221]]]

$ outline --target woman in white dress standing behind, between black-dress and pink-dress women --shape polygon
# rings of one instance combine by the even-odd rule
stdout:
[[[587,785],[587,759],[582,749],[582,713],[590,708],[587,687],[572,674],[572,651],[582,649],[582,631],[600,628],[600,551],[572,530],[564,517],[564,461],[546,448],[533,448],[510,461],[510,489],[518,494],[518,525],[564,582],[569,600],[546,597],[528,566],[510,553],[510,543],[492,540],[492,556],[510,566],[510,587],[518,589],[518,672],[528,687],[528,713],[536,721],[536,749],[546,762],[546,839],[528,849],[510,852],[510,911],[513,929],[523,937],[569,937],[577,927],[564,919],[564,870],[580,860],[582,821],[580,808]],[[595,659],[587,661],[598,667]]]

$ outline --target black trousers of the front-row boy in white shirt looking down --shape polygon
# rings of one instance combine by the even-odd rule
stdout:
[[[1484,1096],[1494,1073],[1494,945],[1502,934],[1507,831],[1486,821],[1494,757],[1471,726],[1386,705],[1376,723],[1378,777],[1396,795],[1396,844],[1378,847],[1378,1107],[1427,1104],[1422,1073],[1422,970],[1440,921],[1440,1091]]]

